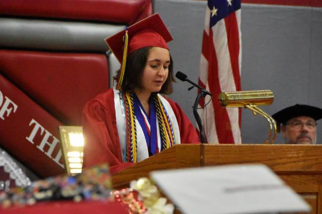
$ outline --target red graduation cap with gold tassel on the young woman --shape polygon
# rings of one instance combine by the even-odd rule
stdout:
[[[163,23],[159,13],[142,19],[127,29],[106,38],[106,43],[117,60],[122,64],[117,89],[120,89],[122,84],[128,54],[144,47],[169,49],[166,43],[171,40],[172,36]]]

